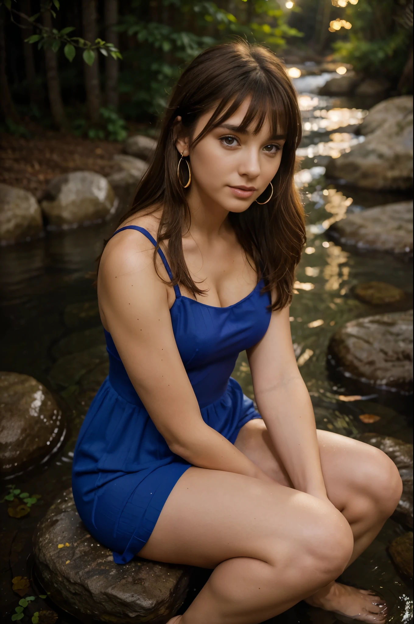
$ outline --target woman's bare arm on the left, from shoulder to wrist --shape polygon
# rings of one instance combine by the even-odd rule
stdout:
[[[161,263],[159,270],[166,276]],[[108,243],[99,268],[99,306],[138,396],[171,451],[190,464],[269,480],[203,421],[175,343],[167,288],[144,236],[125,231]]]

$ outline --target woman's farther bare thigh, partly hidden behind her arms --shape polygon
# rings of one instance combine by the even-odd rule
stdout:
[[[388,475],[397,473],[393,462],[369,444],[320,429],[317,430],[317,437],[327,494],[340,511],[345,509],[350,497],[354,500],[358,496],[366,499],[376,490],[387,489],[392,481]],[[263,421],[247,422],[241,428],[234,446],[272,479],[292,487]]]

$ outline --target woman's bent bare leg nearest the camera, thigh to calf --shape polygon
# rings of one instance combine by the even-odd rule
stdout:
[[[188,469],[139,555],[214,568],[171,624],[258,624],[344,569],[352,534],[333,505],[244,475]]]

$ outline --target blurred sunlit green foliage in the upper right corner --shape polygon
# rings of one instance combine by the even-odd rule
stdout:
[[[356,71],[393,79],[402,73],[412,34],[403,21],[404,0],[359,0],[344,16],[352,23],[347,39],[334,43],[335,57]],[[342,31],[341,31],[342,32]]]

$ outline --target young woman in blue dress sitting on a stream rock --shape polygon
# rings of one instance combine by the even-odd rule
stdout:
[[[381,451],[316,431],[292,349],[300,139],[274,54],[206,50],[100,260],[110,373],[80,431],[74,497],[117,563],[214,568],[171,624],[259,623],[302,599],[385,622],[380,598],[335,578],[392,514],[400,477]],[[259,413],[230,378],[243,349]]]

